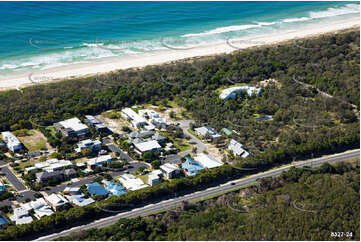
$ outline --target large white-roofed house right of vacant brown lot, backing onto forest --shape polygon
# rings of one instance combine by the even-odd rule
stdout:
[[[83,137],[89,133],[89,128],[83,124],[78,118],[71,118],[54,124],[55,130],[59,131],[63,136]]]

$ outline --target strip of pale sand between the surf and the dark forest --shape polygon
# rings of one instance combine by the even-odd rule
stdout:
[[[144,67],[147,65],[156,65],[187,58],[209,56],[222,53],[231,53],[237,49],[244,49],[252,46],[270,45],[284,41],[294,40],[316,36],[320,34],[340,31],[348,28],[359,28],[360,18],[348,19],[329,24],[327,26],[305,27],[288,32],[272,33],[272,35],[259,36],[250,39],[228,39],[223,42],[196,46],[191,49],[167,49],[156,53],[139,54],[126,57],[103,58],[94,63],[72,64],[51,68],[47,70],[34,70],[16,76],[0,77],[0,90],[19,89],[22,87],[34,85],[37,83],[47,83],[57,80],[71,79],[93,75],[97,73],[106,73],[119,69],[128,69],[134,67]],[[164,46],[167,44],[165,43]]]

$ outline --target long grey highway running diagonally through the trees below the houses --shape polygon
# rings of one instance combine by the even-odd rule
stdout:
[[[221,184],[221,185],[218,185],[215,187],[210,187],[203,191],[197,191],[197,192],[190,193],[190,194],[187,194],[184,196],[178,196],[173,199],[168,199],[168,200],[164,200],[164,201],[161,201],[161,202],[158,202],[155,204],[150,204],[145,207],[136,208],[131,211],[122,212],[122,213],[116,214],[114,216],[96,220],[90,224],[74,227],[74,228],[71,228],[71,229],[68,229],[65,231],[61,231],[59,233],[47,235],[47,236],[38,238],[37,240],[52,240],[57,237],[67,236],[70,233],[78,232],[81,230],[108,226],[108,225],[116,223],[120,218],[134,218],[134,217],[138,217],[138,216],[144,216],[144,215],[148,215],[150,213],[154,213],[157,211],[161,211],[164,209],[168,209],[168,208],[180,205],[183,201],[196,201],[196,200],[199,200],[199,199],[207,197],[207,196],[219,194],[219,193],[226,192],[226,191],[231,191],[235,188],[255,183],[259,178],[279,176],[283,171],[290,169],[292,166],[295,166],[295,167],[320,166],[323,163],[345,161],[345,160],[349,160],[351,158],[358,158],[358,157],[360,157],[360,150],[351,150],[351,151],[346,151],[343,153],[329,155],[329,156],[316,158],[316,159],[312,159],[312,160],[294,162],[290,165],[285,165],[285,166],[275,168],[275,169],[272,169],[272,170],[269,170],[266,172],[257,173],[257,174],[254,174],[254,175],[251,175],[248,177],[244,177],[241,179],[229,181],[225,184]]]

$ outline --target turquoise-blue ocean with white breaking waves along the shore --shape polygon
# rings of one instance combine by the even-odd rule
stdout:
[[[359,16],[358,2],[0,2],[0,75]]]

